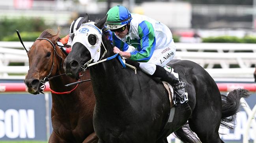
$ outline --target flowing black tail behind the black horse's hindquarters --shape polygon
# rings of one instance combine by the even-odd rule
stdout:
[[[220,124],[228,129],[234,128],[234,119],[240,107],[240,99],[247,98],[250,93],[246,89],[235,89],[229,92],[228,96],[221,95],[222,117]],[[228,124],[232,123],[232,125]]]

